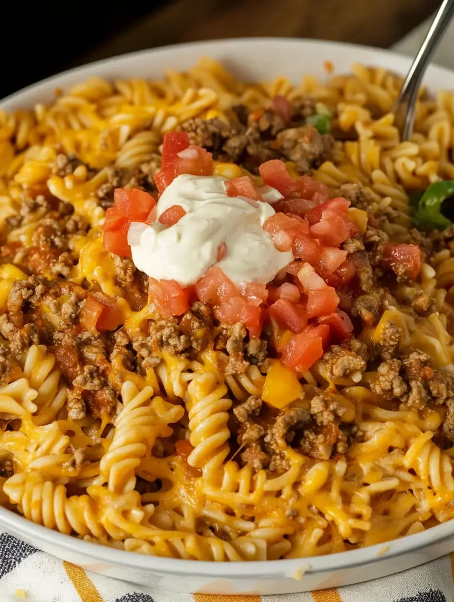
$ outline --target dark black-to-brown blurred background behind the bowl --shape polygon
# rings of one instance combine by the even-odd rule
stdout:
[[[439,0],[127,0],[2,6],[0,98],[80,64],[225,37],[320,38],[388,48]],[[360,58],[360,57],[358,57]]]

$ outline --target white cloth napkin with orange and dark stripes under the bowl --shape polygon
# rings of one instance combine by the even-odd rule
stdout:
[[[454,553],[384,579],[306,594],[175,594],[88,573],[0,532],[0,602],[452,602],[453,573]]]

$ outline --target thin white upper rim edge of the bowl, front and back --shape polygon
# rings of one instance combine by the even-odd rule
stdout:
[[[300,48],[307,48],[312,46],[313,48],[321,48],[326,50],[332,50],[344,48],[350,49],[353,52],[368,52],[374,51],[379,55],[385,55],[386,57],[395,57],[403,61],[403,63],[411,64],[411,57],[403,54],[402,52],[394,52],[390,49],[376,48],[374,46],[365,46],[359,44],[352,44],[347,42],[333,42],[316,39],[300,39],[300,38],[285,38],[285,37],[245,37],[245,38],[228,38],[221,40],[203,40],[200,42],[183,42],[178,44],[160,46],[158,48],[143,49],[135,52],[128,52],[115,57],[103,58],[100,60],[92,61],[90,63],[83,64],[81,66],[73,67],[72,69],[65,70],[63,72],[56,73],[45,79],[42,79],[34,84],[27,85],[21,88],[17,92],[11,93],[5,98],[0,100],[0,109],[5,108],[11,110],[14,108],[16,101],[21,101],[22,96],[27,96],[35,92],[48,92],[49,87],[52,85],[59,85],[59,80],[69,76],[84,75],[84,71],[88,68],[106,69],[115,64],[118,60],[140,60],[140,58],[148,56],[165,55],[166,53],[171,54],[172,52],[184,51],[187,48],[204,49],[209,48],[230,48],[234,45],[245,45],[250,48],[254,46],[260,46],[263,43],[270,44],[285,44],[294,45]],[[353,57],[352,57],[353,58]],[[447,75],[450,78],[454,78],[454,69],[447,69],[436,64],[431,64],[429,67],[429,73],[438,72],[438,76]],[[99,74],[102,77],[102,73]],[[64,84],[62,84],[64,85]],[[364,548],[358,548],[355,550],[347,550],[342,552],[336,552],[333,554],[326,554],[323,556],[309,556],[301,558],[291,559],[280,559],[280,560],[252,560],[248,562],[212,562],[207,560],[186,560],[180,558],[168,558],[160,556],[148,556],[132,551],[119,550],[117,548],[104,546],[95,542],[84,541],[83,539],[77,538],[72,535],[65,535],[48,527],[33,523],[22,515],[16,514],[13,510],[9,510],[5,507],[0,506],[0,527],[5,529],[9,533],[13,533],[14,536],[19,533],[23,533],[29,541],[33,542],[36,546],[40,542],[45,542],[49,545],[58,545],[59,548],[68,551],[68,553],[80,553],[87,557],[87,559],[101,560],[107,563],[115,563],[122,566],[127,566],[131,569],[153,569],[166,574],[185,574],[185,575],[198,575],[207,577],[219,577],[219,573],[222,573],[222,577],[226,578],[249,578],[249,577],[263,577],[268,576],[273,579],[276,575],[282,575],[293,577],[295,573],[307,571],[307,573],[330,573],[333,570],[338,569],[351,569],[356,566],[364,566],[373,562],[380,562],[384,560],[392,559],[393,557],[400,556],[401,554],[415,552],[421,550],[421,548],[427,548],[431,545],[441,544],[447,539],[453,538],[454,536],[454,519],[446,521],[446,523],[438,524],[434,527],[430,527],[422,532],[415,533],[414,535],[406,535],[399,539],[393,539],[391,541],[385,541],[379,544],[370,545]],[[95,545],[93,545],[93,543]],[[424,562],[422,559],[420,563]],[[219,566],[221,564],[221,566]],[[415,563],[416,564],[416,563]],[[89,567],[87,567],[89,569]],[[264,574],[266,573],[266,575]]]

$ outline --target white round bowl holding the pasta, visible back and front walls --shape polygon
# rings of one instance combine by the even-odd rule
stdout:
[[[169,46],[98,61],[45,79],[8,96],[0,108],[13,110],[51,101],[54,88],[68,88],[89,75],[104,78],[159,78],[163,69],[184,70],[198,58],[218,59],[232,73],[250,81],[286,75],[298,82],[303,73],[325,77],[323,61],[337,73],[352,63],[387,67],[405,74],[411,60],[375,48],[334,42],[256,38]],[[429,90],[454,89],[454,72],[432,66]],[[361,550],[268,562],[195,562],[143,556],[62,535],[0,508],[0,528],[60,559],[116,579],[156,589],[207,594],[284,594],[333,588],[398,573],[454,550],[454,521],[422,533]]]

